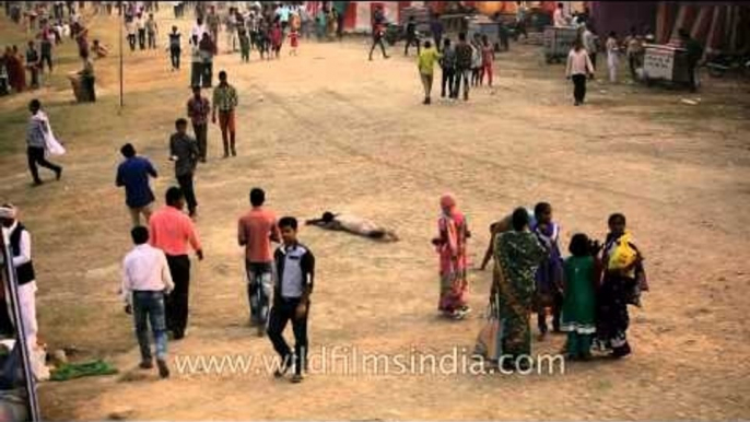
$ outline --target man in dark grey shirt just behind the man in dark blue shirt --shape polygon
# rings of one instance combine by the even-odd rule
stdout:
[[[175,121],[177,132],[169,138],[169,159],[175,162],[175,177],[183,189],[190,218],[196,216],[198,201],[194,190],[192,177],[198,165],[198,143],[187,134],[187,120],[179,118]]]

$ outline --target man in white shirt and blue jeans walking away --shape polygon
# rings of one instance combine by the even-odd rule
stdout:
[[[122,261],[121,295],[127,303],[125,312],[133,314],[136,337],[141,349],[143,370],[151,370],[151,344],[149,323],[156,343],[156,365],[162,378],[169,376],[166,364],[166,320],[164,295],[172,292],[175,284],[164,251],[149,245],[149,230],[137,226],[130,232],[136,247]]]

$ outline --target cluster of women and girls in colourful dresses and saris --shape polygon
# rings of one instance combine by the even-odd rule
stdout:
[[[434,241],[441,253],[441,309],[460,319],[468,310],[466,265],[461,265],[468,228],[453,198],[445,197],[442,208],[440,236]],[[452,231],[452,225],[457,228]],[[493,223],[480,268],[494,259],[489,319],[495,324],[489,327],[500,332],[484,331],[496,343],[487,344],[480,336],[478,353],[493,362],[509,359],[507,363],[530,355],[529,317],[536,313],[540,341],[548,333],[548,314],[553,332],[567,332],[569,359],[588,360],[595,350],[614,357],[630,354],[628,305],[641,306],[641,292],[648,290],[644,257],[626,231],[624,215],[610,215],[608,225],[603,244],[574,234],[571,256],[563,259],[561,228],[549,203],[539,202],[534,210],[518,208]],[[445,297],[453,305],[445,307]]]

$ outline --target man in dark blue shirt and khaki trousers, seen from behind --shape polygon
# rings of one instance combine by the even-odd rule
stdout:
[[[120,149],[125,161],[117,168],[117,186],[125,186],[125,203],[130,210],[132,225],[141,225],[141,214],[149,223],[153,212],[154,194],[149,186],[149,176],[159,177],[151,162],[136,155],[136,148],[126,143]]]

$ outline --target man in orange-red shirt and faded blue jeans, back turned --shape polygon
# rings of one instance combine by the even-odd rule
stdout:
[[[262,208],[265,201],[266,192],[262,189],[253,188],[250,190],[253,209],[239,219],[237,230],[239,246],[245,247],[250,325],[258,327],[258,336],[266,332],[272,290],[271,241],[278,243],[281,238],[276,215]]]

